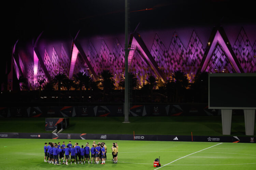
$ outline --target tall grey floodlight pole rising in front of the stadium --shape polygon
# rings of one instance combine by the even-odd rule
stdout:
[[[129,123],[129,79],[128,79],[128,0],[125,0],[125,106],[124,106],[124,123]]]

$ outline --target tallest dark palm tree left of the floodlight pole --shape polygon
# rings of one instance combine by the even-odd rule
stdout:
[[[114,75],[110,73],[109,70],[103,70],[98,77],[100,79],[100,87],[103,88],[103,95],[105,98],[106,94],[109,94],[110,91],[115,89],[115,80],[113,79]]]

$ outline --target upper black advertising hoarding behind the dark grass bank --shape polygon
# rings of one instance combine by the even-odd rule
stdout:
[[[235,110],[243,115],[242,110]],[[208,104],[133,105],[129,116],[217,116],[221,109],[209,109]],[[106,106],[40,106],[2,107],[0,117],[106,117],[124,116],[123,105]]]

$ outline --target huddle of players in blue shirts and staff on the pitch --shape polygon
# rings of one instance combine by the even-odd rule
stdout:
[[[118,154],[118,145],[117,143],[113,143],[111,148],[112,156],[113,156],[113,164],[117,163],[117,154]],[[90,163],[90,153],[91,153],[91,163]],[[68,145],[65,145],[65,142],[60,146],[60,142],[54,143],[49,142],[44,143],[44,162],[54,165],[60,165],[61,159],[63,160],[62,164],[68,165],[68,160],[70,160],[70,165],[72,165],[72,159],[74,159],[75,164],[85,164],[85,161],[88,164],[105,164],[106,161],[106,153],[107,147],[104,142],[99,142],[98,144],[93,141],[92,147],[90,147],[89,143],[85,144],[85,147],[82,145],[81,147],[76,142],[73,146],[71,141],[69,141]],[[66,159],[66,160],[65,160]]]

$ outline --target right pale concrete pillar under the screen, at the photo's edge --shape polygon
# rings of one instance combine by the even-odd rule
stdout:
[[[255,110],[244,110],[245,135],[254,135]]]

